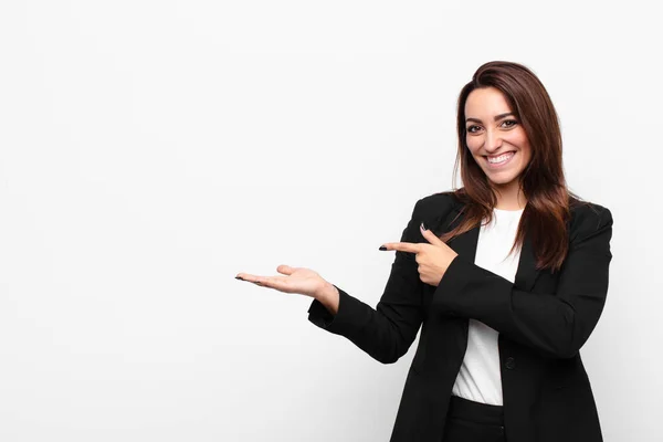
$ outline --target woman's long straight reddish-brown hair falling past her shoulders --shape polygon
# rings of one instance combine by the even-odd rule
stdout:
[[[449,241],[481,223],[492,220],[496,196],[487,177],[472,157],[466,143],[465,102],[476,88],[499,90],[532,146],[532,159],[518,177],[527,200],[516,240],[512,248],[522,246],[525,232],[532,235],[537,267],[557,271],[568,253],[568,225],[570,203],[580,200],[567,188],[561,162],[561,131],[555,106],[539,78],[518,63],[494,61],[483,64],[459,95],[457,154],[454,177],[459,165],[463,188],[452,193],[464,204],[464,219],[441,239]]]

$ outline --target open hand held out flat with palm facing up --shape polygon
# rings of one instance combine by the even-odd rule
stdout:
[[[323,297],[325,293],[328,293],[334,287],[311,269],[280,265],[276,267],[276,271],[286,276],[257,276],[248,273],[238,273],[235,278],[248,281],[262,287],[274,288],[278,292],[298,293],[314,298]]]

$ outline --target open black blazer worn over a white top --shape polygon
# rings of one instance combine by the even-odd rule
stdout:
[[[417,201],[401,241],[428,242],[454,228],[462,206],[450,192]],[[449,245],[459,254],[438,286],[421,282],[414,254],[396,252],[376,309],[339,288],[335,316],[314,299],[308,319],[345,336],[380,362],[396,362],[421,328],[391,442],[439,442],[451,390],[467,346],[467,318],[499,333],[504,420],[509,442],[602,441],[579,349],[593,330],[608,292],[612,215],[572,200],[569,253],[559,272],[535,269],[526,235],[511,283],[474,264],[478,227]]]

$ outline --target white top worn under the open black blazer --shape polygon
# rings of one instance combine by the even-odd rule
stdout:
[[[478,231],[474,264],[512,283],[518,270],[519,249],[508,255],[523,210],[493,210],[493,221]],[[485,222],[485,220],[484,220]],[[498,333],[487,325],[470,319],[467,350],[453,386],[452,394],[475,402],[502,406]]]

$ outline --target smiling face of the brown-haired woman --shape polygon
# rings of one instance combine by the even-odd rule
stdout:
[[[466,143],[494,188],[518,186],[532,158],[525,128],[504,94],[495,87],[476,88],[465,102]]]

